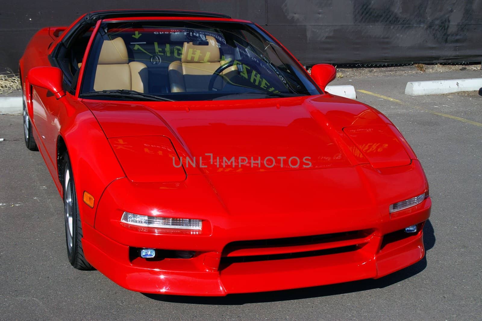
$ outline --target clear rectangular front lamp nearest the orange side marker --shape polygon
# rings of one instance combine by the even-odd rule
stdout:
[[[202,221],[171,217],[147,216],[124,212],[121,222],[146,227],[175,228],[182,230],[201,230]]]

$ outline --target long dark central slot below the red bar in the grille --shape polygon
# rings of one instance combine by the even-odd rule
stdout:
[[[283,254],[269,254],[269,255],[253,255],[253,256],[229,256],[221,257],[221,264],[219,269],[225,269],[233,263],[244,262],[259,262],[259,261],[272,261],[272,260],[286,260],[297,259],[303,257],[321,256],[328,254],[346,253],[351,251],[357,251],[360,248],[358,245],[344,246],[334,249],[307,251],[307,252],[295,252],[295,253],[283,253]]]

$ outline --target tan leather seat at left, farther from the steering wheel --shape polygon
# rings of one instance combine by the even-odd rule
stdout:
[[[127,47],[120,37],[104,40],[95,73],[94,90],[111,89],[148,91],[147,66],[129,62]]]

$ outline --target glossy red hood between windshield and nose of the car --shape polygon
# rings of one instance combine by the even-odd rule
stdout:
[[[132,156],[140,157],[139,165],[149,163],[144,161],[144,154],[168,154],[173,165],[182,164],[188,175],[350,167],[369,163],[369,153],[375,153],[377,159],[398,157],[395,166],[410,163],[388,127],[391,123],[381,113],[355,100],[329,94],[227,101],[83,103],[92,110],[111,145],[116,138],[122,144],[135,138]],[[357,126],[363,128],[362,134],[372,134],[354,140],[353,133],[360,136]],[[372,127],[380,126],[384,128],[380,132],[385,134],[373,134]],[[350,130],[344,132],[345,127]],[[388,138],[387,132],[391,133]],[[158,141],[153,137],[168,138],[172,146],[153,143]],[[151,159],[151,163],[155,161]],[[166,166],[170,161],[164,159],[161,163]],[[390,166],[389,162],[383,164]]]

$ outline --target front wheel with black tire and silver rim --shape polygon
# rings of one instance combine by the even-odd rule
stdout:
[[[64,216],[67,256],[70,264],[79,270],[92,270],[82,248],[82,223],[80,222],[79,203],[75,191],[74,177],[68,154],[63,157]]]

